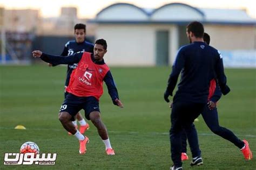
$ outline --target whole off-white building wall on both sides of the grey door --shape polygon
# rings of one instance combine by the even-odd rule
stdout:
[[[255,51],[255,27],[205,25],[211,36],[211,46],[221,52],[234,50]],[[177,25],[142,24],[100,24],[96,38],[104,38],[108,44],[105,61],[118,66],[155,66],[156,31],[169,31],[169,65],[172,65],[178,51]]]

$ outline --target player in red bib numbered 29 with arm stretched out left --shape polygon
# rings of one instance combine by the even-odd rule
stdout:
[[[57,56],[45,54],[41,51],[33,51],[33,57],[41,58],[43,61],[53,65],[78,63],[72,71],[69,86],[66,91],[69,93],[59,110],[59,121],[63,127],[77,137],[80,143],[79,153],[86,153],[86,144],[89,138],[80,133],[72,124],[72,120],[81,109],[85,111],[85,117],[91,120],[96,126],[99,136],[102,138],[108,155],[114,155],[111,147],[107,129],[100,119],[99,98],[103,94],[103,81],[106,83],[113,104],[123,108],[119,100],[116,84],[114,83],[109,67],[103,60],[107,52],[107,44],[104,39],[95,42],[93,54],[78,52],[70,56]]]

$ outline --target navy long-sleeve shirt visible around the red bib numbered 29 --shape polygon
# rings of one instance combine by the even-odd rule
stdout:
[[[78,63],[83,56],[83,52],[78,52],[74,53],[69,56],[58,56],[58,55],[50,55],[50,54],[45,54],[43,53],[41,55],[41,59],[45,62],[51,63],[53,65],[72,65],[73,63]],[[96,64],[96,65],[104,65],[104,60],[102,61],[97,61],[95,60],[93,54],[91,54],[91,60]],[[110,72],[110,70],[106,73],[104,77],[104,82],[106,83],[107,90],[109,91],[109,95],[113,101],[113,104],[117,105],[115,100],[118,98],[118,91],[116,88],[116,83],[114,83],[113,76]]]

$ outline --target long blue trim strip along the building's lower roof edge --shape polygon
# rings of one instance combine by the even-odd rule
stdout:
[[[87,23],[97,23],[97,24],[177,24],[177,25],[187,25],[192,22],[192,20],[184,20],[184,21],[145,21],[145,20],[96,20],[90,19],[87,20]],[[207,22],[205,20],[200,21],[203,24],[219,24],[219,25],[248,25],[248,26],[256,26],[256,22],[219,22],[219,21],[211,21]]]

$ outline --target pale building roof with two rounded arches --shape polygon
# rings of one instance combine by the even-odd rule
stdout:
[[[157,9],[143,9],[129,3],[115,3],[102,9],[91,23],[184,24],[198,20],[212,24],[255,25],[255,19],[239,9],[199,9],[183,3],[169,3]]]

